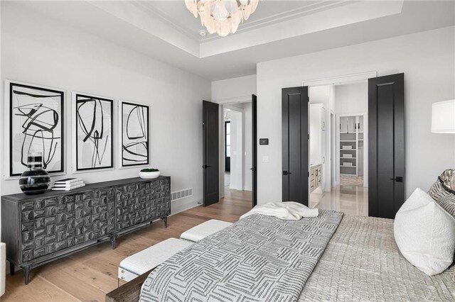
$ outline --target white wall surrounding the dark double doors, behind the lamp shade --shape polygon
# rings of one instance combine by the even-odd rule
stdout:
[[[454,167],[454,135],[430,132],[431,104],[455,96],[455,28],[441,28],[257,65],[258,203],[282,200],[282,88],[304,79],[405,72],[406,194]],[[269,162],[262,162],[268,156]]]

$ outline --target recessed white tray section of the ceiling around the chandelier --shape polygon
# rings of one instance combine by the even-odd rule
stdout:
[[[189,1],[193,4],[196,1],[200,3],[198,0]],[[205,3],[209,2],[209,0],[205,1]],[[285,6],[290,11],[279,9],[284,2],[291,2],[288,6]],[[297,2],[298,6],[294,2]],[[264,45],[331,28],[348,26],[353,23],[392,16],[401,13],[403,6],[403,0],[262,1],[257,6],[257,14],[261,19],[256,21],[255,26],[245,28],[236,35],[230,35],[229,37],[205,40],[205,37],[200,35],[198,35],[198,39],[190,38],[186,35],[187,30],[179,30],[179,28],[185,27],[181,22],[191,23],[187,21],[188,18],[177,21],[176,18],[180,18],[181,13],[184,13],[186,17],[191,17],[193,22],[199,23],[188,13],[181,1],[91,1],[90,3],[198,58],[211,57],[247,47]],[[269,6],[265,6],[267,11],[260,13],[262,4],[266,3],[269,4]],[[176,6],[176,4],[179,6]],[[194,6],[190,7],[194,9]],[[201,8],[200,5],[197,7]],[[252,9],[255,9],[255,6]],[[193,11],[193,13],[197,15],[198,11]],[[147,17],[149,14],[151,16]],[[291,16],[286,18],[287,14]],[[252,19],[255,15],[256,13],[252,15]],[[274,18],[278,18],[277,15],[280,16],[279,22],[274,22]],[[164,30],[166,26],[168,30]],[[203,29],[200,27],[199,23],[197,33],[200,29]],[[210,30],[212,29],[210,28]],[[227,29],[221,31],[223,35],[228,34]]]

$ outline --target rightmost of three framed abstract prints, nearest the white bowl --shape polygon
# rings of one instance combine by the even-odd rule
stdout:
[[[119,101],[120,168],[150,164],[149,114],[149,105]]]

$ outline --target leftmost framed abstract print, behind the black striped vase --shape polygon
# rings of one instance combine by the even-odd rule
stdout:
[[[14,170],[17,169],[17,163],[14,162],[13,158],[14,155],[17,153],[14,150],[16,150],[16,144],[14,143],[14,132],[13,129],[15,129],[15,121],[16,119],[20,118],[26,118],[26,121],[31,120],[30,123],[32,124],[25,126],[25,123],[21,123],[21,127],[23,128],[23,143],[21,146],[21,162],[20,164],[23,166],[23,171],[26,170],[26,162],[24,162],[24,158],[26,158],[26,155],[28,153],[28,150],[24,150],[24,147],[28,144],[29,147],[31,147],[31,144],[33,143],[33,140],[36,139],[36,133],[38,131],[50,133],[50,137],[44,138],[43,135],[41,135],[42,139],[42,145],[43,145],[43,168],[49,173],[49,174],[64,174],[65,173],[65,90],[63,89],[58,89],[58,88],[50,88],[47,86],[41,86],[37,84],[26,84],[22,82],[16,82],[16,81],[10,81],[6,80],[6,85],[8,86],[9,89],[9,177],[18,177],[22,173],[21,172],[15,172]],[[20,91],[20,89],[28,89],[31,91],[36,91],[36,93],[32,93],[31,91],[26,92],[26,91]],[[45,93],[49,93],[50,95],[45,96]],[[45,104],[45,103],[33,103],[28,104],[28,105],[33,105],[33,108],[31,106],[28,106],[26,108],[18,109],[19,107],[23,107],[26,105],[21,105],[21,106],[15,106],[18,104],[14,104],[14,96],[27,96],[28,98],[36,99],[36,101],[43,101],[44,99],[59,99],[59,106],[60,109],[58,111],[55,111],[53,108],[50,108],[48,106],[51,106],[50,104]],[[48,101],[49,102],[49,101]],[[38,104],[38,106],[36,106]],[[44,106],[46,105],[46,106]],[[43,109],[44,108],[44,109]],[[18,109],[18,113],[14,113],[14,110]],[[16,110],[17,111],[17,110]],[[43,112],[46,111],[46,112]],[[54,111],[53,113],[49,113],[49,111]],[[20,117],[18,117],[20,116]],[[28,117],[26,117],[28,116]],[[41,121],[41,125],[39,123],[36,123],[37,119],[39,116],[45,116],[45,117],[50,117],[54,118],[54,121],[51,121],[56,123],[56,125],[51,125],[50,123],[46,123],[45,121]],[[58,118],[57,121],[55,121],[55,118]],[[27,127],[27,128],[26,128]],[[37,130],[37,128],[40,128],[41,130]],[[60,130],[58,135],[60,137],[55,138],[53,135],[55,134],[54,130],[58,129]],[[33,135],[31,133],[26,134],[27,131],[35,131]],[[19,134],[20,135],[20,134]],[[26,137],[32,136],[31,142],[26,142]],[[39,138],[38,138],[39,139]],[[46,145],[46,142],[50,142],[50,146]],[[54,144],[55,142],[55,144]],[[45,147],[48,148],[48,152],[45,152]],[[56,149],[60,148],[60,152],[56,152]],[[54,151],[52,151],[54,150]],[[53,159],[55,158],[55,155],[60,156],[60,161],[57,160],[57,162],[60,162],[59,169],[47,169],[47,167],[52,164]]]

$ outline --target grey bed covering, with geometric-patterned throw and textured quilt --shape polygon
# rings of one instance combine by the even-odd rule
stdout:
[[[336,229],[341,214],[320,213],[319,226],[245,218],[152,272],[141,301],[455,301],[449,272],[427,276],[400,255],[393,220],[345,215]]]

